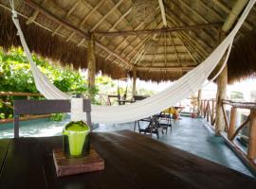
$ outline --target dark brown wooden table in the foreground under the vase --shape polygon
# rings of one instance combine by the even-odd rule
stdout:
[[[128,130],[93,133],[91,143],[105,170],[57,179],[61,137],[0,140],[0,188],[256,188],[247,175]]]

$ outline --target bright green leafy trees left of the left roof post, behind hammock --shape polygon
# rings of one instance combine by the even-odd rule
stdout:
[[[46,77],[61,91],[73,95],[86,94],[86,78],[82,71],[74,71],[70,67],[61,68],[36,55],[32,58]],[[0,48],[0,92],[39,93],[27,57],[21,48],[11,48],[8,53]],[[22,98],[26,99],[26,96],[1,96],[1,99],[10,105],[14,99]],[[0,112],[0,118],[12,117],[12,110],[7,106],[0,105]]]

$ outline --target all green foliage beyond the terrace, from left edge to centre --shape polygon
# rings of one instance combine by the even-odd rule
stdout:
[[[61,67],[39,56],[32,55],[32,59],[46,77],[61,91],[73,96],[88,96],[93,104],[101,104],[101,97],[97,94],[118,94],[118,86],[110,77],[96,77],[96,87],[89,89],[87,79],[82,70],[75,71],[72,67]],[[119,92],[125,94],[126,87],[120,87]],[[36,89],[30,65],[22,48],[11,48],[4,52],[0,47],[0,92],[39,93]],[[128,87],[128,95],[132,94],[132,87]],[[143,88],[138,94],[153,94]],[[26,99],[26,96],[0,96],[12,106],[14,99]],[[42,97],[34,96],[33,99]],[[0,119],[11,118],[12,110],[0,103]],[[53,120],[62,120],[62,115],[54,114]]]

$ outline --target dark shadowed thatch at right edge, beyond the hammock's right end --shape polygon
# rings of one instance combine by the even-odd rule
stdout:
[[[229,61],[229,83],[256,73],[256,32],[251,31],[232,47]]]

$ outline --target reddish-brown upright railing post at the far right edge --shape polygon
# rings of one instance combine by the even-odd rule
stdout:
[[[249,142],[247,157],[250,160],[256,158],[256,111],[250,111]]]

